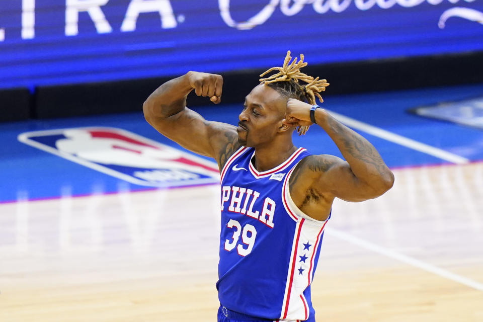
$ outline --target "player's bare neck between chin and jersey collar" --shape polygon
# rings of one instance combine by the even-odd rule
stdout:
[[[259,172],[273,169],[283,163],[297,147],[293,145],[292,141],[277,144],[271,142],[265,146],[255,147],[255,169]]]

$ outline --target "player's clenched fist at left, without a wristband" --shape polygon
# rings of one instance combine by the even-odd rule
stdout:
[[[221,75],[188,71],[186,76],[196,95],[207,96],[215,104],[221,102],[221,89],[223,87],[223,77]]]

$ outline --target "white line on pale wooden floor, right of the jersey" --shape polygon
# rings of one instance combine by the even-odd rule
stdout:
[[[471,287],[473,289],[476,289],[478,291],[483,292],[483,284],[482,283],[479,283],[479,282],[472,280],[470,278],[452,273],[448,270],[445,270],[445,269],[437,267],[435,265],[432,265],[432,264],[426,263],[424,261],[418,260],[414,257],[404,255],[402,253],[396,252],[396,251],[391,250],[389,248],[385,248],[385,247],[379,246],[377,244],[371,243],[370,241],[356,237],[353,234],[350,234],[348,232],[344,232],[342,230],[332,228],[332,227],[327,227],[326,233],[329,233],[329,235],[332,235],[332,236],[339,238],[341,240],[348,241],[349,243],[354,244],[356,246],[365,248],[367,250],[373,251],[373,252],[378,253],[380,255],[384,255],[386,257],[392,258],[392,259],[397,260],[399,262],[406,263],[408,265],[414,266],[416,268],[422,269],[424,271],[433,273],[433,274],[438,275],[440,277],[444,277],[446,279],[452,280],[452,281],[457,282],[459,284],[463,284],[465,286],[468,286],[468,287]]]

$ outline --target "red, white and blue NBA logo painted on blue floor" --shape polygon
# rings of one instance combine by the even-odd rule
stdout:
[[[136,185],[179,187],[219,181],[213,163],[119,128],[34,131],[22,133],[18,139]]]

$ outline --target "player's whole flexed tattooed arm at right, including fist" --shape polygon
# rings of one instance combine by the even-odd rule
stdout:
[[[289,99],[286,122],[312,124],[310,107],[307,103]],[[347,201],[376,198],[392,187],[394,175],[368,140],[324,109],[315,110],[315,122],[329,134],[347,161],[328,156],[312,157],[306,164],[316,178],[315,185],[329,189],[336,197]]]

